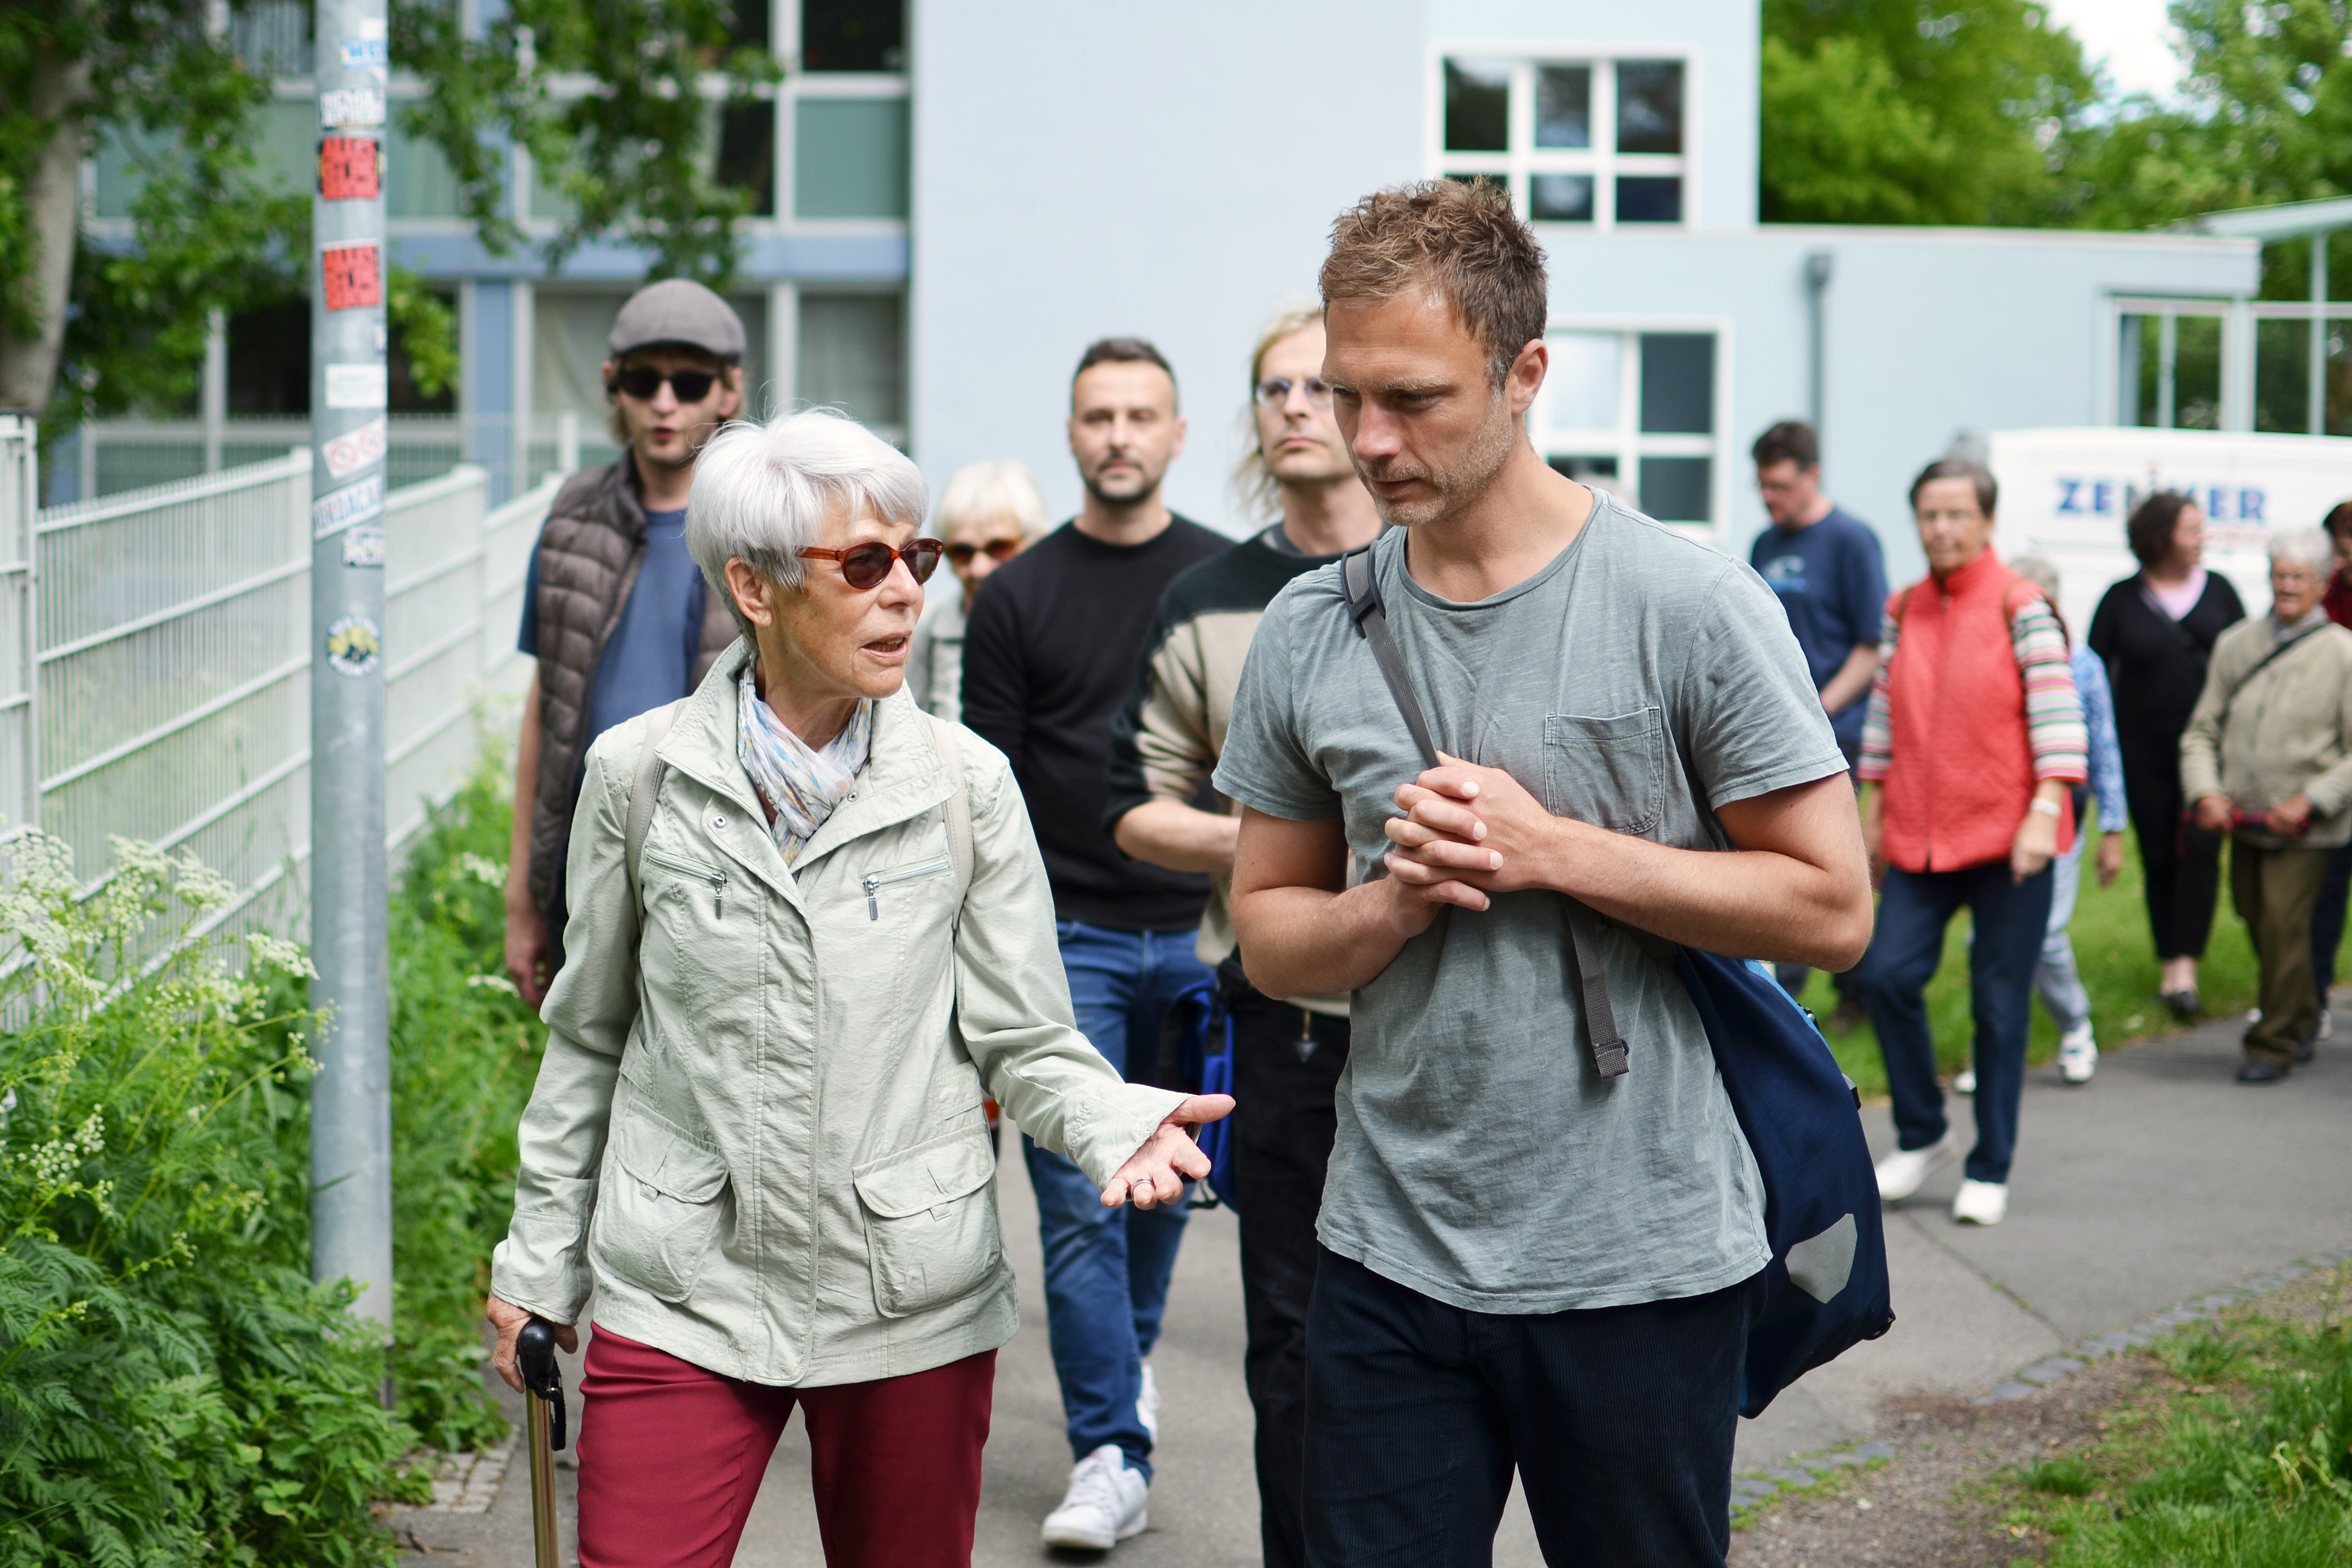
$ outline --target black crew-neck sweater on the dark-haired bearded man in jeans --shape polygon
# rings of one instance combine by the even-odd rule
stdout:
[[[1054,917],[1117,931],[1190,931],[1209,879],[1129,860],[1103,830],[1110,719],[1169,581],[1232,548],[1174,517],[1141,545],[1063,524],[997,567],[964,625],[964,724],[1002,750],[1028,799]]]

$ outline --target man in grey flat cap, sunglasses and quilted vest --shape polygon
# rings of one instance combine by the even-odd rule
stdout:
[[[703,442],[743,407],[743,322],[673,277],[630,294],[607,348],[621,458],[562,487],[522,588],[517,646],[539,672],[515,748],[506,973],[534,1009],[564,961],[564,849],[588,743],[694,691],[736,639],[687,555],[687,494]]]

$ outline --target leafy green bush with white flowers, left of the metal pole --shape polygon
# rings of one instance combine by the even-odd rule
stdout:
[[[308,964],[238,973],[228,884],[113,858],[82,898],[28,835],[0,889],[0,1566],[386,1563],[372,1505],[423,1479],[303,1272]]]

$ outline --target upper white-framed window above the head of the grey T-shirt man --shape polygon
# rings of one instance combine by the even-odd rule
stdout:
[[[1689,221],[1686,59],[1446,54],[1437,172],[1491,179],[1538,223]]]

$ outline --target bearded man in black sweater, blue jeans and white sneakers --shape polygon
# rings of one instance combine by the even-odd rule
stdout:
[[[1054,884],[1077,1027],[1112,1067],[1148,1074],[1176,992],[1209,978],[1192,931],[1197,872],[1129,860],[1103,830],[1110,719],[1152,609],[1185,567],[1232,545],[1176,517],[1160,480],[1183,451],[1176,376],[1141,339],[1103,339],[1070,381],[1070,456],[1087,503],[1004,562],[964,628],[964,724],[1002,750]],[[1044,1239],[1047,1338],[1077,1467],[1044,1544],[1103,1552],[1145,1526],[1160,1338],[1183,1208],[1103,1208],[1063,1159],[1021,1140]]]

